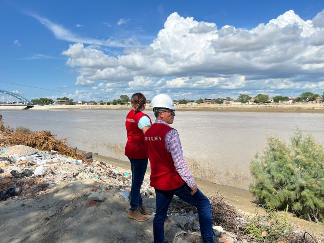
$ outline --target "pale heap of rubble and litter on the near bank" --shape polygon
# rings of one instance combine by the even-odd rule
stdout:
[[[131,186],[129,173],[125,173],[126,176],[102,161],[84,164],[81,160],[43,151],[2,157],[1,165],[0,193],[6,194],[6,198],[11,196],[10,193],[7,193],[11,188],[14,190],[16,188],[21,189],[17,190],[13,195],[17,199],[17,197],[36,196],[46,193],[60,182],[80,179],[102,181],[109,184],[108,190],[112,186],[120,186],[121,189],[130,190]],[[146,195],[153,195],[153,188],[149,187],[148,179],[145,179],[141,190]],[[98,201],[100,200],[98,199]]]

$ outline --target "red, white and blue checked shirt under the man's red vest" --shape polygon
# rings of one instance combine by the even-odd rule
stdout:
[[[167,122],[158,119],[156,119],[154,123],[163,123],[169,126]],[[172,129],[168,131],[167,135],[165,136],[164,143],[167,151],[171,153],[174,166],[176,167],[180,177],[187,183],[188,186],[193,187],[195,185],[195,181],[193,180],[187,162],[183,157],[182,146],[177,130]]]

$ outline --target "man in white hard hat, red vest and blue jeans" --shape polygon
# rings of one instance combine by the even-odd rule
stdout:
[[[145,147],[151,164],[150,185],[156,192],[156,214],[153,220],[155,243],[164,243],[164,222],[174,195],[198,209],[204,243],[214,243],[211,205],[198,189],[183,157],[179,133],[169,126],[175,110],[172,99],[159,94],[152,99],[156,121],[145,133]]]

